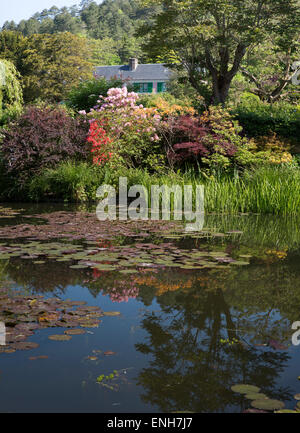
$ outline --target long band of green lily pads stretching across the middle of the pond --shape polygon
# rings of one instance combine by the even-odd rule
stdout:
[[[203,269],[249,264],[249,260],[233,259],[224,251],[183,249],[172,242],[134,243],[106,248],[98,247],[96,241],[85,241],[84,244],[39,241],[10,245],[1,243],[0,260],[14,257],[31,259],[36,265],[53,259],[68,262],[73,269],[117,270],[123,274],[136,273],[138,268]]]

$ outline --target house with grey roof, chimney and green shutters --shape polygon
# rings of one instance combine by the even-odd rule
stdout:
[[[163,63],[139,64],[138,59],[131,58],[128,65],[96,66],[94,75],[107,80],[121,78],[133,84],[137,93],[160,93],[166,91],[171,70]]]

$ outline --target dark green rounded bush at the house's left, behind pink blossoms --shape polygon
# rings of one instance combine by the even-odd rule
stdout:
[[[106,80],[105,78],[93,78],[82,81],[74,86],[67,97],[67,105],[75,110],[89,111],[91,107],[97,104],[99,95],[106,96],[108,89],[112,87],[121,87],[121,79]]]

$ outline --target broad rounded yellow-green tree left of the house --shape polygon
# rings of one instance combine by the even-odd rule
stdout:
[[[61,101],[80,80],[92,77],[89,57],[86,39],[71,33],[29,37],[21,71],[25,101]]]

